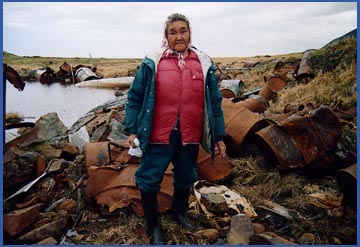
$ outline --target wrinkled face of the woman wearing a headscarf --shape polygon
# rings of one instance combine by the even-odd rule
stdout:
[[[184,52],[190,42],[190,30],[184,21],[170,22],[166,36],[170,48],[176,52]]]

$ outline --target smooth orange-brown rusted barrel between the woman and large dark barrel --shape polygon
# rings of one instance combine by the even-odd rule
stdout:
[[[242,102],[242,101],[241,101]],[[269,125],[269,121],[263,119],[259,114],[250,111],[242,104],[233,103],[231,100],[223,100],[226,147],[229,155],[240,154],[244,139],[258,130]]]

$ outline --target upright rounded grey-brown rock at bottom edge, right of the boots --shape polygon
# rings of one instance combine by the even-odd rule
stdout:
[[[248,245],[250,237],[254,234],[253,224],[250,217],[245,214],[237,214],[231,218],[230,232],[227,235],[227,244]]]

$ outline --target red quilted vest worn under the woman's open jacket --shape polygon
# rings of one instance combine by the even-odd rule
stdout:
[[[156,73],[156,92],[151,143],[170,143],[170,134],[180,116],[183,144],[200,143],[204,111],[204,75],[194,52],[185,59],[163,55]]]

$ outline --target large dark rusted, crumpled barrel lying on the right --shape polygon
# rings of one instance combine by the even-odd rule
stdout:
[[[272,153],[280,167],[311,165],[314,169],[324,169],[331,165],[332,159],[327,154],[341,136],[341,124],[330,108],[320,106],[309,115],[292,114],[279,125],[268,126],[256,135],[260,137],[257,141],[261,150]]]

